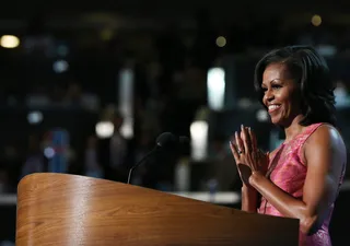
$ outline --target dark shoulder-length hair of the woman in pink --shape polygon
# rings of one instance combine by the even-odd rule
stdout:
[[[315,122],[337,124],[334,83],[326,60],[310,46],[287,46],[265,55],[256,65],[254,85],[262,102],[262,74],[271,63],[287,66],[302,94],[302,126]]]

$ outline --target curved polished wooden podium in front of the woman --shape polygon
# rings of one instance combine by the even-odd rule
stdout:
[[[18,189],[16,246],[298,246],[299,221],[138,186],[38,173]]]

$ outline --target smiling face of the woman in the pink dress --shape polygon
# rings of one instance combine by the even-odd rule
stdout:
[[[262,74],[262,103],[275,125],[287,127],[301,115],[301,94],[283,63],[269,65]]]

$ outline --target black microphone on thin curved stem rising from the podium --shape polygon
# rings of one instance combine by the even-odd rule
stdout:
[[[185,136],[176,137],[172,132],[163,132],[162,134],[160,134],[155,140],[155,143],[156,143],[155,147],[130,168],[127,184],[130,184],[132,171],[139,165],[141,165],[144,161],[147,161],[149,156],[153,155],[154,153],[161,150],[170,150],[170,149],[178,148],[188,141],[189,140],[187,137]]]

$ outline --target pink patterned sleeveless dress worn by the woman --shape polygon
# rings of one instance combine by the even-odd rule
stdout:
[[[270,173],[270,180],[296,199],[302,199],[303,187],[306,178],[307,167],[302,161],[302,147],[307,138],[323,124],[307,126],[303,132],[287,143],[282,143],[270,156],[269,168],[275,165]],[[345,168],[338,186],[338,191],[343,179]],[[307,236],[300,232],[300,246],[331,246],[328,232],[329,222],[334,210],[334,202],[328,208],[328,214],[322,227],[313,235]],[[258,208],[258,213],[282,216],[264,197]]]

